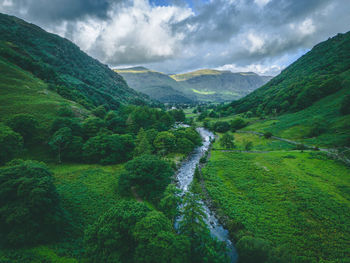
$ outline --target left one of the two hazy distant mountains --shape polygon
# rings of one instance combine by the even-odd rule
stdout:
[[[168,75],[144,67],[115,69],[136,91],[153,99],[167,103],[191,103],[194,97],[181,92],[180,85]]]

